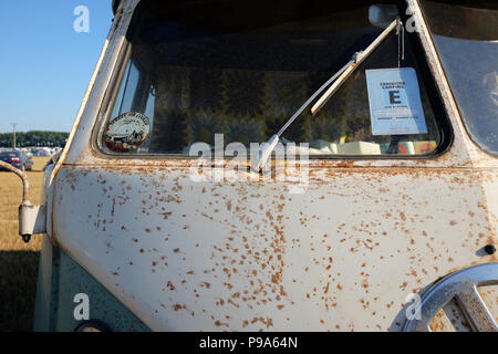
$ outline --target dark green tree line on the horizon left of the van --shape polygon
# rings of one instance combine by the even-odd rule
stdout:
[[[30,131],[15,133],[15,147],[50,146],[64,147],[69,133]],[[13,146],[13,133],[0,133],[0,147]]]

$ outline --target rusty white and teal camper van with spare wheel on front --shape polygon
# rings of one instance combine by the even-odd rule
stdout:
[[[113,9],[37,331],[497,331],[496,2]]]

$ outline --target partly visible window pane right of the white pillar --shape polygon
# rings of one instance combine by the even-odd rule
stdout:
[[[498,154],[498,2],[423,1],[444,69],[467,131]]]

